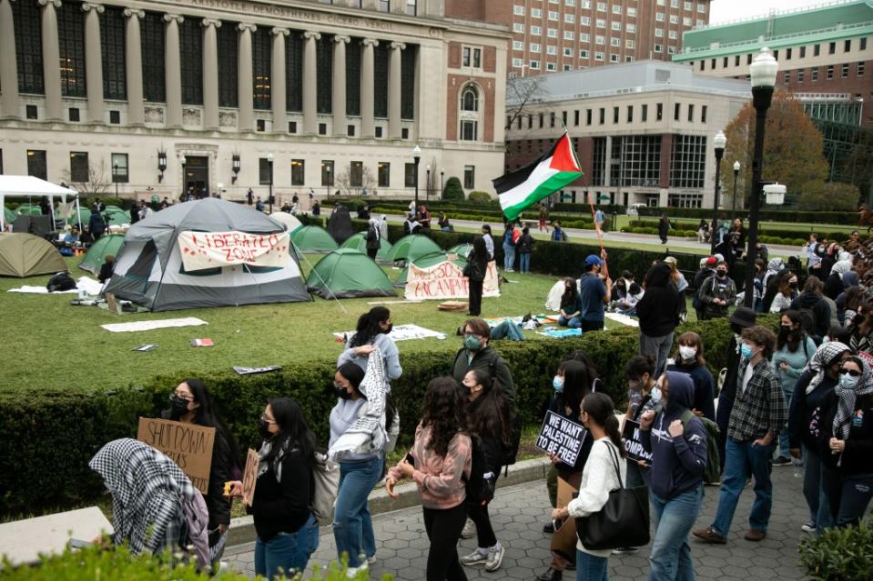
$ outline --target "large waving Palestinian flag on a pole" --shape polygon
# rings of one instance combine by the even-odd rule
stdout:
[[[554,194],[582,175],[570,136],[564,133],[548,153],[511,174],[501,175],[492,183],[500,195],[503,215],[514,220],[524,208]]]

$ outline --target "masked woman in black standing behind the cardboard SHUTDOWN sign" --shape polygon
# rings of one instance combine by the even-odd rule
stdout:
[[[212,563],[224,553],[230,527],[230,499],[224,496],[224,483],[238,479],[242,474],[239,445],[218,415],[206,385],[200,379],[182,381],[170,396],[170,408],[161,412],[163,419],[214,427],[212,463],[209,467],[209,489],[203,495],[209,512],[208,536]]]

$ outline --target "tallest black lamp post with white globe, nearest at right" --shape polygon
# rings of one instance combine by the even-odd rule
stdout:
[[[746,248],[746,300],[744,305],[755,304],[755,258],[757,256],[757,215],[761,205],[761,174],[764,165],[764,130],[766,110],[773,100],[773,87],[779,69],[777,60],[766,46],[749,66],[752,79],[752,104],[755,105],[755,153],[752,156],[752,197],[748,213],[748,247]]]

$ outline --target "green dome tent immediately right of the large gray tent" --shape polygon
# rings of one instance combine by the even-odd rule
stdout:
[[[340,248],[321,258],[306,286],[321,298],[397,296],[381,267],[352,248]]]

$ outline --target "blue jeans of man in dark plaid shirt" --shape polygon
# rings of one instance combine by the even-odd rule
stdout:
[[[746,477],[755,478],[755,502],[748,517],[749,527],[766,533],[770,522],[770,510],[773,508],[773,483],[770,481],[770,471],[773,469],[773,448],[770,446],[752,446],[752,440],[737,442],[727,438],[725,446],[725,473],[722,475],[722,486],[718,491],[718,509],[713,528],[721,536],[727,536],[731,521],[734,520],[736,502],[739,500]],[[749,475],[751,468],[751,475]]]

